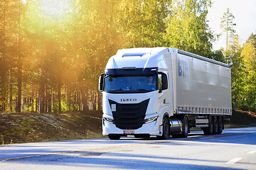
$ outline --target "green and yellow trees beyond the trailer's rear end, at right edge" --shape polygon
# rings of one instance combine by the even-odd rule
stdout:
[[[256,49],[247,40],[241,45],[238,35],[235,36],[225,56],[229,64],[232,64],[232,98],[233,108],[243,111],[256,111]]]

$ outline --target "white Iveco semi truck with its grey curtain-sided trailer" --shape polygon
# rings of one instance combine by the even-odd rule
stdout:
[[[232,115],[230,65],[169,47],[118,50],[100,75],[102,134],[222,133]]]

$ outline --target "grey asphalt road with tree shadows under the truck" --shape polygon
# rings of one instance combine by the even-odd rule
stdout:
[[[0,169],[256,169],[256,127],[169,140],[121,137],[0,146]]]

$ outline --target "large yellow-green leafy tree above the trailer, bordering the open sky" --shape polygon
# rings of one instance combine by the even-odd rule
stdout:
[[[214,37],[206,16],[211,4],[210,0],[171,1],[171,13],[164,34],[165,46],[210,57]]]

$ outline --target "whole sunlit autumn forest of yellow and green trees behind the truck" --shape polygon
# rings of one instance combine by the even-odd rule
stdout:
[[[232,65],[233,108],[256,111],[256,32],[245,43],[211,0],[1,0],[0,113],[100,111],[98,79],[118,49],[177,47]],[[237,23],[238,24],[238,23]],[[256,30],[256,28],[255,28]]]

